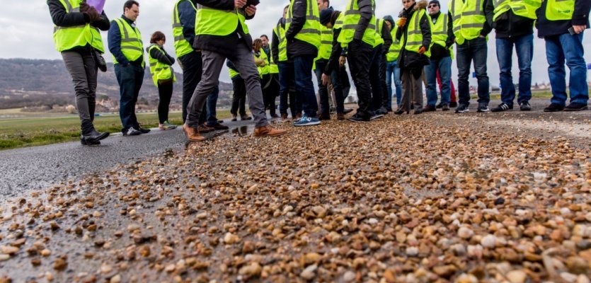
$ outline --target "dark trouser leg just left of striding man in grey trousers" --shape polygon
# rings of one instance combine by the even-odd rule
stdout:
[[[187,109],[197,83],[201,81],[203,62],[201,52],[191,52],[178,58],[183,66],[183,122],[187,119]]]

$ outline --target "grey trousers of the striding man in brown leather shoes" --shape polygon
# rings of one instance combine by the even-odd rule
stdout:
[[[201,81],[195,88],[193,97],[189,101],[187,108],[187,122],[189,127],[199,125],[199,115],[207,96],[214,91],[219,80],[219,73],[226,63],[226,56],[211,50],[202,50],[203,75]],[[254,56],[246,44],[236,46],[234,54],[228,57],[234,63],[236,70],[241,74],[246,85],[246,96],[248,96],[248,108],[254,117],[255,127],[264,127],[269,124],[265,104],[263,103],[263,91],[260,88],[260,76],[256,69]]]

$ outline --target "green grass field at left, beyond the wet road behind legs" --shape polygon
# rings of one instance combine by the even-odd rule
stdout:
[[[16,119],[0,119],[0,150],[80,139],[78,115],[27,113],[18,112],[18,110],[0,110],[0,115],[28,116]],[[39,117],[40,115],[42,117]],[[230,117],[230,112],[229,110],[219,110],[217,117],[219,119]],[[142,127],[158,127],[158,114],[156,112],[138,113],[137,119]],[[181,113],[171,112],[169,121],[175,125],[181,125],[183,123]],[[95,117],[94,125],[99,132],[115,133],[121,131],[121,121],[118,115]]]

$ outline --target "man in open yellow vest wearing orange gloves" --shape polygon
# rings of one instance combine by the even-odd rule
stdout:
[[[402,0],[402,4],[404,9],[398,19],[396,32],[401,52],[396,63],[402,73],[403,95],[401,105],[398,105],[394,114],[408,114],[411,111],[411,101],[414,103],[414,114],[420,114],[423,112],[423,69],[429,64],[432,23],[425,11],[426,1],[415,3],[414,0]]]

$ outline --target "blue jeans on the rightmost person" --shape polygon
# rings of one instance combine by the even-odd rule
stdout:
[[[570,103],[587,105],[589,101],[589,87],[587,86],[587,66],[583,58],[583,33],[570,35],[565,33],[546,40],[546,58],[548,59],[548,75],[552,86],[551,103],[566,104],[566,71],[564,62],[570,69],[568,90]]]

